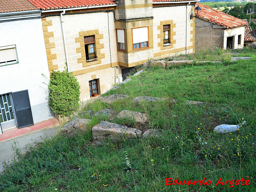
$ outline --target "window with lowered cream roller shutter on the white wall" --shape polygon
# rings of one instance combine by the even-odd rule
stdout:
[[[16,45],[0,47],[0,66],[18,63]]]

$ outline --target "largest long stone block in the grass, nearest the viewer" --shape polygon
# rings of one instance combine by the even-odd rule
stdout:
[[[141,131],[138,129],[126,127],[108,121],[101,121],[99,124],[92,127],[92,139],[95,144],[103,144],[104,140],[127,140],[138,138],[141,136]]]

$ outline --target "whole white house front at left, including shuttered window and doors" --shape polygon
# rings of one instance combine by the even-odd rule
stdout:
[[[11,13],[0,13],[2,130],[26,127],[53,117],[47,106],[47,85],[43,83],[47,81],[42,76],[49,78],[50,73],[41,11],[30,6],[28,11],[13,8]]]

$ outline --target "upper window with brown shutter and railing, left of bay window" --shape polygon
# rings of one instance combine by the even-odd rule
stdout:
[[[84,48],[85,48],[86,61],[92,61],[92,60],[97,59],[97,55],[95,52],[95,37],[94,37],[94,35],[84,37]]]

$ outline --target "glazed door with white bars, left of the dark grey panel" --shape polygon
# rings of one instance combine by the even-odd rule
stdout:
[[[4,131],[16,127],[11,93],[0,95],[0,106],[0,123],[2,130]]]

